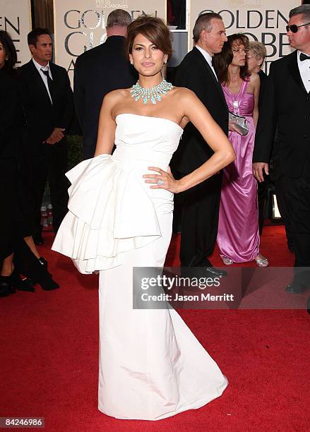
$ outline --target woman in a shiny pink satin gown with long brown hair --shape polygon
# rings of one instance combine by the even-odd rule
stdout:
[[[226,265],[256,260],[266,267],[268,260],[259,252],[257,183],[252,173],[260,80],[257,73],[248,72],[248,47],[245,35],[230,35],[215,56],[229,112],[246,117],[249,124],[249,132],[242,136],[229,122],[229,141],[237,157],[223,170],[217,245]]]

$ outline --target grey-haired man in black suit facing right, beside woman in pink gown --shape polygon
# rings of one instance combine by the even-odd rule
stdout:
[[[212,65],[227,41],[222,18],[217,13],[203,13],[193,28],[195,47],[186,54],[177,68],[175,85],[196,93],[213,119],[228,133],[228,108],[222,87]],[[198,168],[213,155],[203,136],[193,124],[184,129],[177,152],[172,159],[174,174],[184,176]],[[213,275],[225,272],[212,267],[207,256],[213,252],[217,237],[222,174],[184,192],[181,221],[181,267],[205,267]]]

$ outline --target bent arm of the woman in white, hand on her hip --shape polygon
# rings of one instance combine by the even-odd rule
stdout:
[[[226,167],[235,159],[234,149],[220,126],[213,120],[208,110],[196,95],[184,88],[179,89],[180,105],[183,107],[184,116],[198,129],[214,154],[201,167],[195,169],[191,174],[184,176],[180,180],[175,180],[172,175],[165,173],[157,167],[150,167],[153,171],[160,174],[145,174],[146,183],[153,183],[151,188],[165,188],[173,193],[186,191],[193,186],[209,179],[220,169]],[[207,145],[207,143],[205,145]],[[159,179],[164,180],[163,185],[157,185]]]

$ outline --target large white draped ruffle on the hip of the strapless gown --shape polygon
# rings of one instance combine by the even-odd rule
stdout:
[[[68,213],[52,250],[72,258],[81,273],[121,265],[123,252],[161,236],[141,179],[111,155],[84,160],[66,176],[71,181]]]

